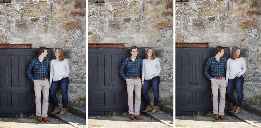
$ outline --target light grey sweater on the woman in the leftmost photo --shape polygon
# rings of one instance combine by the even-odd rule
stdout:
[[[66,59],[63,61],[59,61],[58,59],[53,59],[50,61],[50,82],[61,80],[63,78],[63,75],[68,77],[70,70],[69,70],[69,64]]]

